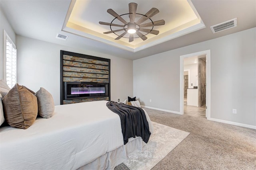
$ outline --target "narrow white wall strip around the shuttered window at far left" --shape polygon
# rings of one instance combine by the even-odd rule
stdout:
[[[0,7],[0,80],[4,78],[4,52],[3,52],[3,33],[4,30],[9,35],[10,39],[12,39],[12,42],[16,44],[16,35],[14,33],[14,30],[12,29],[12,26],[4,16],[4,13],[2,12],[2,9]]]

